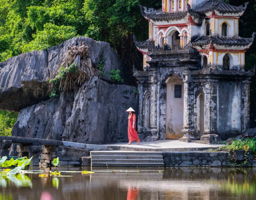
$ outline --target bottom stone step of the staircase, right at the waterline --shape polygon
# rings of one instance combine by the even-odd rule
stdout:
[[[122,166],[122,167],[163,167],[163,163],[92,163],[95,166]]]

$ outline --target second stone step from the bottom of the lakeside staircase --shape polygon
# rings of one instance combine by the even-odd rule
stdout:
[[[163,159],[92,159],[92,163],[163,163]]]

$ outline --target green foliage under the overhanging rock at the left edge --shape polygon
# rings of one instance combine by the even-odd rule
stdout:
[[[17,117],[18,113],[0,110],[0,135],[12,135],[12,128],[17,121]]]

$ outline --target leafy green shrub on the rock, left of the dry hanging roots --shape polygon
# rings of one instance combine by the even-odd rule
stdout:
[[[53,83],[54,88],[50,94],[50,97],[53,96],[59,96],[61,89],[60,89],[60,81],[66,79],[66,75],[68,73],[75,74],[77,71],[77,66],[73,63],[72,65],[69,65],[67,67],[61,67],[58,74],[52,78],[48,79],[48,83]]]

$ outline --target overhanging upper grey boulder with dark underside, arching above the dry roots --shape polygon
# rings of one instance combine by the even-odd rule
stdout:
[[[111,69],[123,71],[118,55],[108,43],[74,37],[47,50],[20,54],[0,63],[0,109],[20,111],[47,100],[47,80],[59,70],[67,46],[81,45],[82,41],[89,47],[93,64],[105,57],[103,78],[109,79]]]

